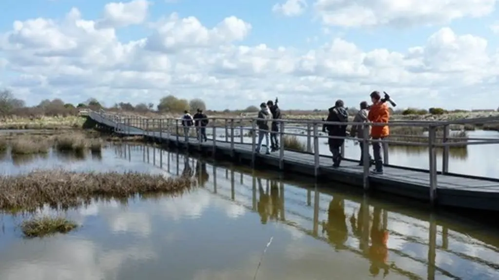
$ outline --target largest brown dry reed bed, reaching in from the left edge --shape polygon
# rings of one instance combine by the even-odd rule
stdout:
[[[167,178],[136,172],[33,171],[24,175],[0,176],[0,210],[33,211],[44,205],[67,209],[99,197],[179,193],[190,189],[193,182],[186,177]]]

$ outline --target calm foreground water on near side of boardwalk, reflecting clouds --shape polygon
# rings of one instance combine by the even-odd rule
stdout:
[[[493,229],[327,188],[332,186],[144,146],[29,160],[13,164],[7,155],[0,170],[187,173],[202,187],[176,198],[97,202],[68,212],[82,228],[41,240],[20,237],[22,217],[0,216],[1,280],[251,280],[271,237],[260,280],[371,279],[383,264],[390,267],[386,279],[499,278]],[[370,239],[383,229],[386,254]]]

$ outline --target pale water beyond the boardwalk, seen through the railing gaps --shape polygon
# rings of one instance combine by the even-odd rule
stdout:
[[[286,132],[303,133],[303,130],[290,129]],[[221,129],[218,140],[225,140],[225,129]],[[235,134],[239,136],[239,130]],[[324,134],[323,134],[324,135]],[[470,138],[499,139],[495,131],[470,131]],[[306,136],[298,137],[306,144]],[[245,137],[244,142],[251,143],[250,137]],[[235,139],[241,142],[240,138]],[[321,139],[319,153],[331,155],[327,146],[327,139]],[[312,139],[313,150],[313,139]],[[429,152],[425,147],[417,146],[390,146],[389,163],[393,165],[409,166],[416,168],[429,168]],[[371,149],[372,150],[372,149]],[[360,159],[360,147],[354,141],[345,141],[345,157]],[[437,168],[442,168],[442,151],[438,151]],[[499,178],[499,144],[469,145],[467,148],[452,148],[450,151],[449,171],[460,174],[486,176]]]

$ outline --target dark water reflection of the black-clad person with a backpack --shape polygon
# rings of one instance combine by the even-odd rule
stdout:
[[[346,226],[346,215],[344,199],[340,195],[334,195],[327,210],[327,223],[322,224],[322,232],[327,233],[329,242],[338,249],[345,247],[348,239],[348,229]]]

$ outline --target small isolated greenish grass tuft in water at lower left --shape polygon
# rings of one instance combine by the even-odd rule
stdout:
[[[21,231],[27,238],[44,237],[56,233],[68,233],[76,229],[78,225],[62,217],[35,217],[24,220],[21,225]]]

